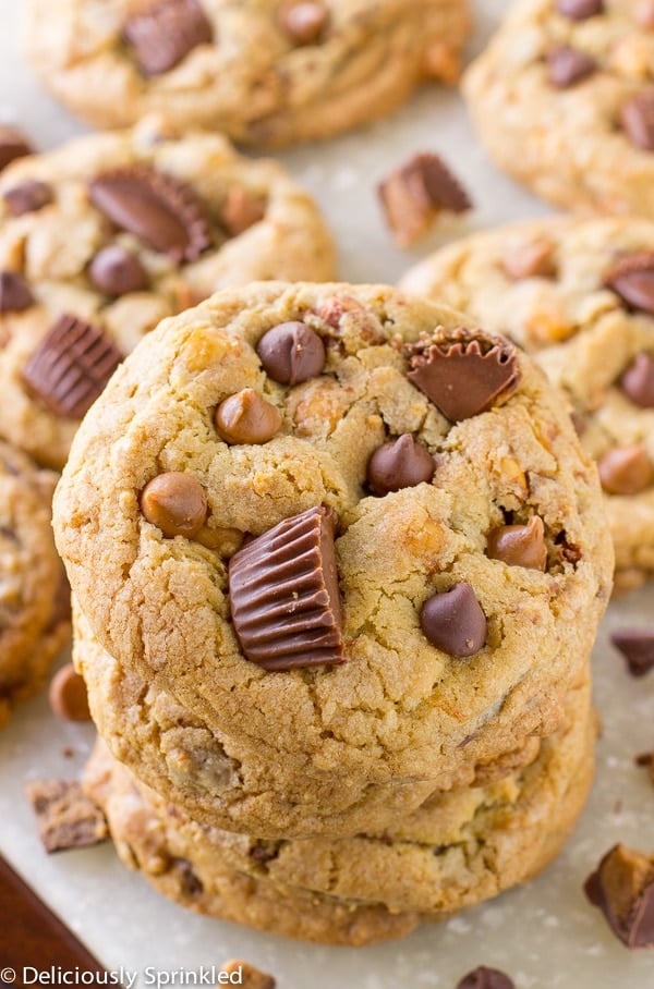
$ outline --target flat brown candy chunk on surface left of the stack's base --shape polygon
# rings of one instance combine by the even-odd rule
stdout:
[[[25,792],[46,852],[84,848],[109,837],[102,811],[75,780],[28,783]]]

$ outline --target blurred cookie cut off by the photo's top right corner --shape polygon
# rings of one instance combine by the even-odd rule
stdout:
[[[494,162],[559,206],[654,218],[654,14],[518,0],[463,89]]]

